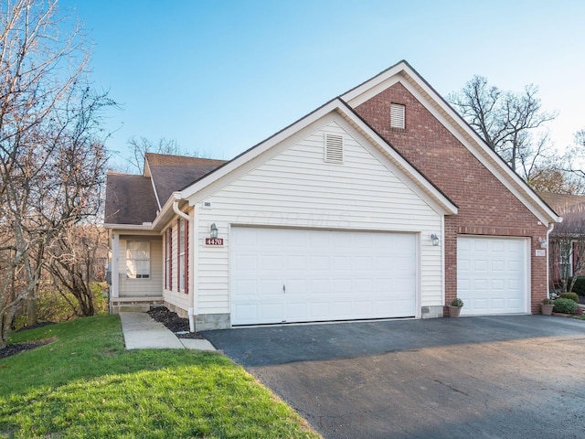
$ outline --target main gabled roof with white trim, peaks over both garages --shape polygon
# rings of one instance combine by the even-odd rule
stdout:
[[[442,99],[439,93],[432,89],[426,80],[420,77],[418,72],[413,70],[406,61],[400,61],[374,78],[347,91],[341,97],[325,103],[314,112],[307,114],[228,162],[178,155],[146,154],[144,177],[151,182],[154,202],[161,212],[154,219],[153,228],[162,227],[164,222],[173,215],[175,201],[186,198],[190,198],[190,201],[193,202],[202,200],[217,188],[218,184],[229,182],[242,170],[260,165],[262,157],[265,157],[264,153],[267,153],[272,147],[299,135],[329,113],[341,116],[371,145],[378,148],[378,151],[388,158],[402,177],[412,182],[413,187],[431,203],[434,209],[442,211],[446,215],[457,213],[457,206],[441,192],[440,188],[425,177],[416,166],[410,164],[353,110],[360,103],[366,102],[370,97],[397,82],[404,85],[537,219],[544,224],[562,220],[545,201],[527,186],[522,178],[518,177],[505,164],[499,155],[484,143],[484,140],[473,131],[473,128],[465,123],[463,118],[452,109],[449,103]]]

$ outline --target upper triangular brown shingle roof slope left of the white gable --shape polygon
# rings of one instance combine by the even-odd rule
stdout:
[[[152,178],[158,209],[161,209],[173,192],[189,186],[226,161],[146,153],[144,163],[144,175]]]

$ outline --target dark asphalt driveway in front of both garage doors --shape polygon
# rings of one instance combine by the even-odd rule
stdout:
[[[585,437],[585,321],[485,316],[204,335],[325,438]]]

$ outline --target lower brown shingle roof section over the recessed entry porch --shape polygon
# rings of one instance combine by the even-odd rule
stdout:
[[[105,224],[153,222],[158,207],[148,177],[109,173],[106,178]]]

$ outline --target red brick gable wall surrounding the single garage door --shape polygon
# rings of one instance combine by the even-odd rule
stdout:
[[[406,130],[390,128],[390,103],[406,105]],[[547,227],[482,165],[420,102],[397,83],[356,107],[378,134],[417,166],[458,206],[445,218],[445,300],[457,294],[457,235],[531,239],[532,313],[547,294],[547,258],[536,257]]]

